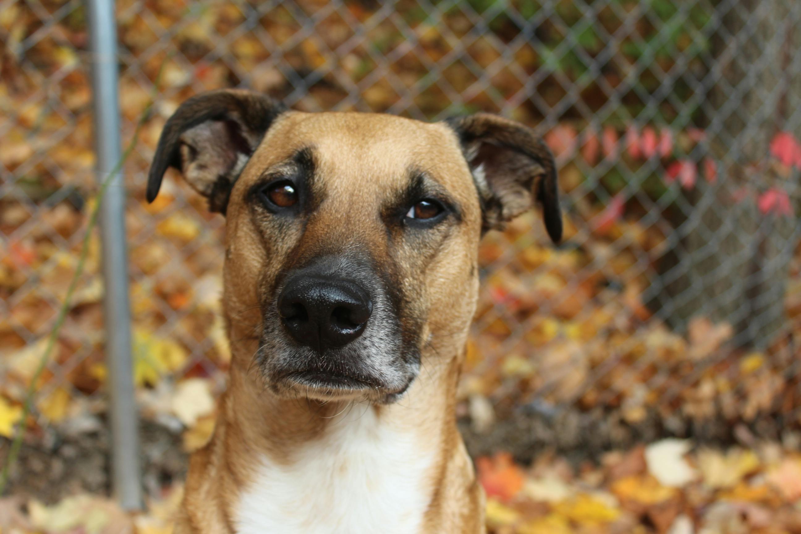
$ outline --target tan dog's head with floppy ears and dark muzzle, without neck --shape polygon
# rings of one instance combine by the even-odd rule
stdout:
[[[553,156],[492,114],[308,114],[220,90],[167,121],[148,200],[167,167],[227,216],[229,334],[257,317],[252,363],[280,395],[396,399],[423,355],[461,350],[484,231],[539,202],[562,236]]]

